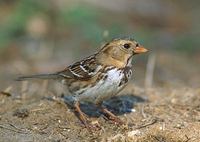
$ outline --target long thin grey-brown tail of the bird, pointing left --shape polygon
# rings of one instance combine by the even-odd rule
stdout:
[[[16,81],[24,81],[24,80],[31,80],[31,79],[58,79],[60,76],[55,74],[36,74],[30,76],[20,76],[16,78]]]

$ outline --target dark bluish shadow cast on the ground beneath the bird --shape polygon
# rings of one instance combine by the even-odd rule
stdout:
[[[65,103],[71,107],[71,100],[67,97],[63,97]],[[123,115],[125,113],[132,112],[134,105],[140,102],[145,102],[146,99],[135,96],[135,95],[123,95],[123,96],[115,96],[103,102],[103,107],[106,107],[109,111],[114,113],[115,115]],[[101,111],[97,106],[92,103],[81,102],[80,104],[81,110],[90,117],[100,117]]]

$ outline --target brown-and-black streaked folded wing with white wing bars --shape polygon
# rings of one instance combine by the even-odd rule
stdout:
[[[85,80],[96,75],[101,68],[102,66],[96,63],[95,56],[90,56],[82,61],[68,66],[63,71],[58,72],[58,75],[64,78]]]

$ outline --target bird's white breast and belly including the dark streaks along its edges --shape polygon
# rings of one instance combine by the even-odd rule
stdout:
[[[131,73],[131,69],[119,69],[113,66],[107,67],[97,77],[95,85],[90,84],[76,91],[76,96],[79,100],[83,101],[102,102],[122,90],[130,79]]]

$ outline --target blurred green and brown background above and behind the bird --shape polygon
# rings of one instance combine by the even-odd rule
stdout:
[[[150,50],[134,58],[135,84],[199,87],[199,13],[197,0],[1,0],[0,89],[18,75],[61,70],[120,37]]]

